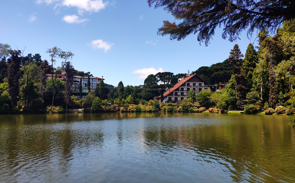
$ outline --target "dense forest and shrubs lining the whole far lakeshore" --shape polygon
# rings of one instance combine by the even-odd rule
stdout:
[[[198,108],[211,108],[211,112],[244,110],[255,114],[265,110],[266,114],[271,114],[276,110],[278,114],[295,113],[294,21],[285,21],[274,36],[263,28],[258,33],[258,46],[254,48],[250,43],[245,56],[236,44],[223,62],[192,72],[211,85],[221,82],[227,86],[215,93],[210,90],[196,96],[191,93],[188,101],[178,105],[160,103],[156,97],[185,77],[184,73],[151,74],[139,86],[124,86],[122,81],[113,86],[102,80],[95,92],[90,92],[86,99],[79,99],[71,94],[69,82],[54,77],[46,79],[46,74],[59,74],[61,70],[66,71],[67,78],[91,76],[90,72],[74,69],[70,62],[73,53],[53,47],[46,51],[51,58],[46,61],[40,54],[24,56],[24,51],[12,50],[9,44],[0,46],[0,113],[62,112],[67,108],[99,112],[118,111],[119,107],[126,107],[123,110],[127,111],[196,112]],[[58,59],[65,64],[55,67]]]

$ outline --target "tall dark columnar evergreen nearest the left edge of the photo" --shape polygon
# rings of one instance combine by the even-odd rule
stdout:
[[[22,59],[20,50],[10,50],[11,57],[7,59],[8,63],[8,93],[11,96],[12,104],[17,105],[17,97],[19,96],[19,78],[22,76],[20,71]]]

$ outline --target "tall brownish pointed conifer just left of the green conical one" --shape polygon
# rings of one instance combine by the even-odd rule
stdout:
[[[236,81],[235,90],[237,91],[236,98],[237,98],[237,107],[242,109],[246,105],[246,87],[245,81],[246,76],[244,70],[242,68],[243,60],[241,59],[244,55],[240,51],[239,45],[235,44],[234,48],[230,52],[230,56],[228,61],[232,64],[234,78]]]

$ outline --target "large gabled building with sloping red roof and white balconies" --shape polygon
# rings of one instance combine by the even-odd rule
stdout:
[[[163,94],[163,102],[179,103],[179,101],[188,98],[187,93],[189,93],[190,89],[193,89],[196,95],[206,89],[210,89],[212,92],[215,92],[215,89],[212,86],[202,80],[198,75],[194,74],[186,78],[182,78],[172,88],[165,91]],[[161,96],[159,96],[158,99],[161,101]]]

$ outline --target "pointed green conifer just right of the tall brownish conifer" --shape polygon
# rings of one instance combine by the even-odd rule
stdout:
[[[257,63],[257,52],[254,49],[253,44],[249,44],[245,53],[243,61],[243,70],[247,78],[247,88],[251,88],[253,84],[253,72]],[[249,92],[249,91],[248,91]]]

